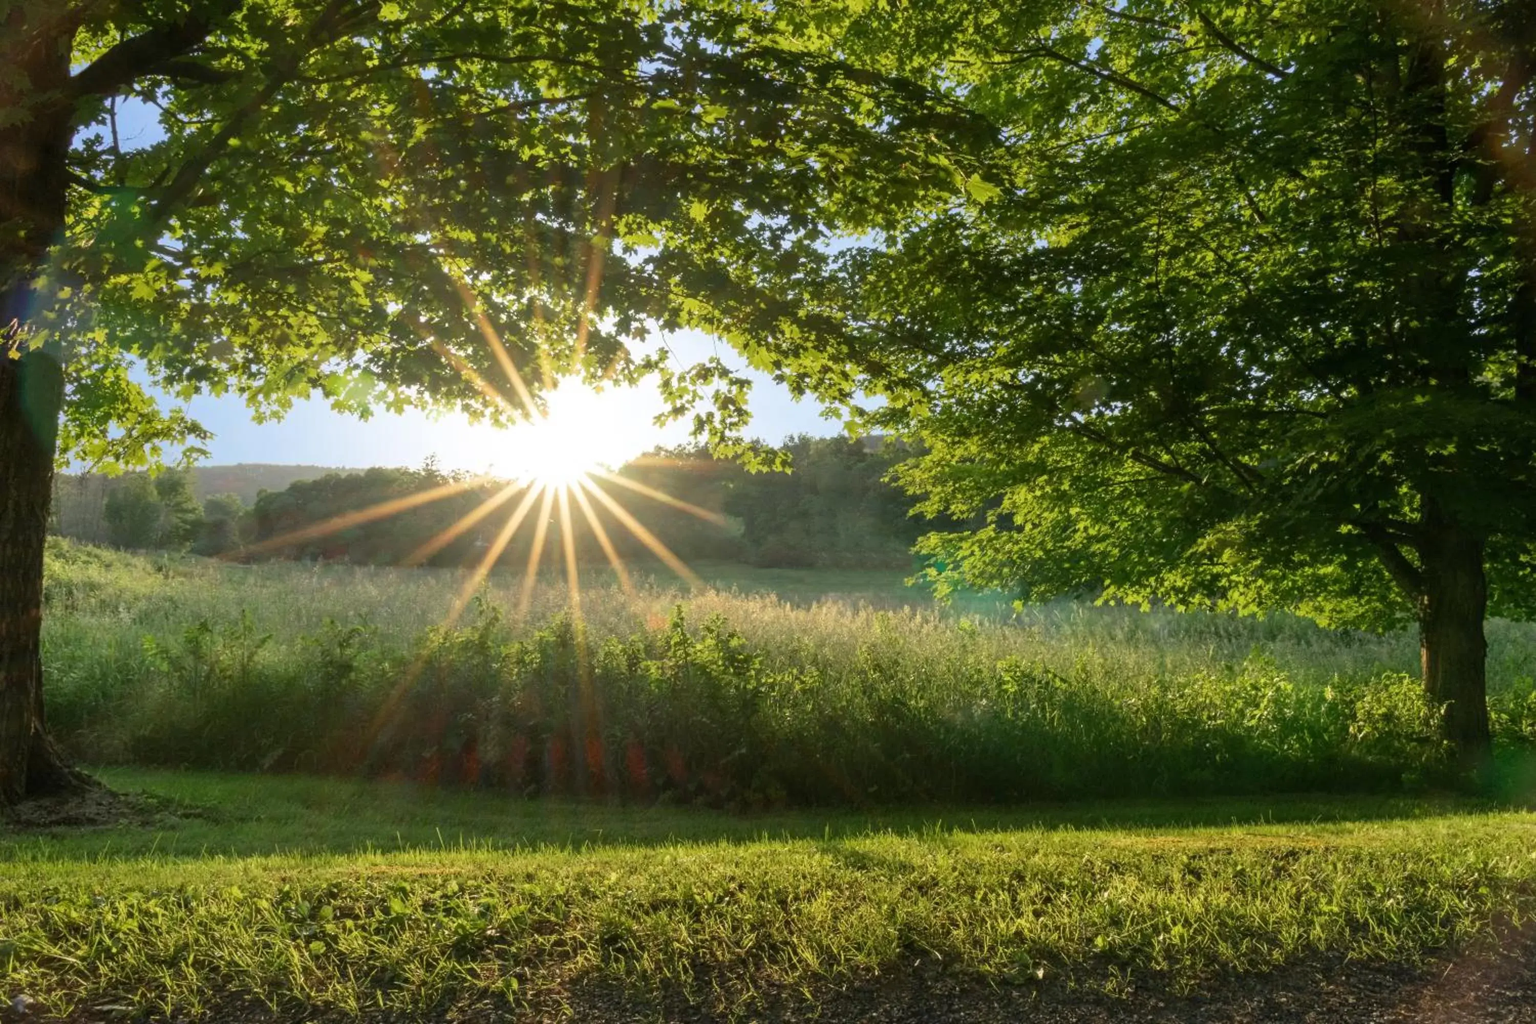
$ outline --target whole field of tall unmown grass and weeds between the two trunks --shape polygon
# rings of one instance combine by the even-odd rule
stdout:
[[[51,722],[98,763],[716,804],[1393,789],[1442,763],[1412,637],[1057,605],[1017,617],[625,594],[55,545]],[[883,605],[883,606],[880,606]],[[1501,742],[1536,633],[1491,623]]]

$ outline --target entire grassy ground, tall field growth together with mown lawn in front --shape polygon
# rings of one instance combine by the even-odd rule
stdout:
[[[445,629],[450,571],[52,543],[51,723],[138,809],[0,831],[0,995],[80,1021],[1118,1019],[1524,949],[1528,626],[1491,623],[1504,791],[1467,795],[1409,637],[699,568],[693,593],[590,573],[579,620],[556,579],[519,613],[493,576]]]

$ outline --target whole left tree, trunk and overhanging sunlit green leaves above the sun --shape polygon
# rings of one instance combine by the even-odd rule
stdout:
[[[0,800],[65,777],[37,639],[55,459],[134,465],[203,436],[146,379],[260,416],[313,393],[521,416],[558,375],[650,368],[630,342],[656,327],[722,322],[728,244],[790,267],[829,227],[951,187],[966,146],[935,141],[982,123],[803,45],[791,12],[6,3]],[[161,135],[124,140],[126,103]],[[869,160],[886,172],[860,173]],[[668,385],[716,396],[699,413],[716,441],[743,421],[719,364]]]

